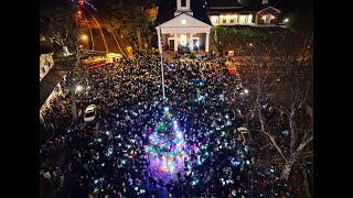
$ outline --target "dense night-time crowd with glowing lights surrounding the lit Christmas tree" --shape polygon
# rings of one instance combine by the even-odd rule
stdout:
[[[65,145],[61,167],[44,168],[60,178],[71,197],[289,197],[278,177],[270,180],[255,166],[257,156],[237,129],[246,118],[234,110],[237,82],[224,59],[165,62],[165,100],[160,59],[136,59],[90,70],[76,92],[78,123],[41,148]],[[95,121],[84,123],[87,106]],[[150,170],[148,136],[168,107],[186,142],[183,173],[163,180]],[[55,145],[54,145],[55,144]],[[46,153],[46,154],[45,154]],[[55,172],[55,174],[53,174]]]

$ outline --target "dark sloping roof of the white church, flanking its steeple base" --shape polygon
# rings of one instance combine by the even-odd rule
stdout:
[[[159,0],[159,9],[156,19],[156,24],[162,24],[174,18],[174,11],[176,9],[176,0]],[[191,0],[190,9],[193,12],[193,18],[212,25],[205,8],[203,8],[202,0]]]

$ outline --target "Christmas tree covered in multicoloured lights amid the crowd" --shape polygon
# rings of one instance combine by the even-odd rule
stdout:
[[[151,169],[170,174],[182,169],[186,156],[183,151],[184,139],[168,108],[164,108],[162,121],[150,134],[149,143]]]

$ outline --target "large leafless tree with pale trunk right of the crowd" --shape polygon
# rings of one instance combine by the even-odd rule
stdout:
[[[307,106],[312,106],[312,34],[265,37],[247,53],[249,62],[238,70],[249,90],[246,103],[258,123],[253,130],[275,147],[278,155],[272,158],[280,158],[280,178],[288,182],[293,166],[302,169],[313,153],[313,120],[307,113]]]

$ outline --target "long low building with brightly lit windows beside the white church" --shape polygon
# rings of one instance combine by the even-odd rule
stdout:
[[[212,25],[275,25],[281,12],[268,0],[242,6],[236,0],[205,0]]]

